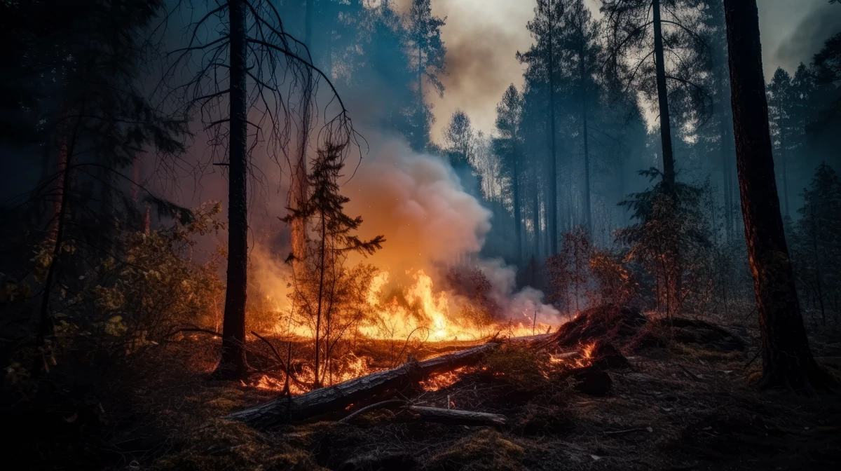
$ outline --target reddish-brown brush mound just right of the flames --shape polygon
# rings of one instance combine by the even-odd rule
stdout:
[[[558,347],[575,347],[600,341],[623,345],[634,336],[648,319],[638,310],[606,304],[584,310],[558,329],[552,341]]]

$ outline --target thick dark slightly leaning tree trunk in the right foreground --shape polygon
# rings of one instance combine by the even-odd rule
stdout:
[[[759,386],[821,387],[829,377],[809,349],[780,216],[756,0],[724,0],[724,9],[742,217],[762,334]]]

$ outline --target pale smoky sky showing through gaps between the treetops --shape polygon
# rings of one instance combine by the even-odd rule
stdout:
[[[599,0],[585,0],[596,12]],[[398,0],[405,8],[409,0]],[[535,0],[432,0],[432,13],[447,17],[442,40],[447,46],[443,98],[428,93],[436,122],[432,137],[441,140],[452,113],[463,109],[474,126],[494,130],[496,103],[510,83],[522,85],[517,50],[526,51],[532,37],[526,23]],[[841,5],[827,0],[757,0],[766,79],[777,66],[793,73],[811,61],[823,40],[841,31]]]

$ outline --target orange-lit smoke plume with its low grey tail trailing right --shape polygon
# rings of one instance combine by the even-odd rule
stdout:
[[[421,269],[440,279],[442,263],[469,259],[488,278],[486,296],[510,319],[532,320],[537,311],[538,322],[560,322],[558,310],[543,304],[542,292],[530,287],[516,292],[516,267],[477,257],[493,214],[464,191],[442,157],[411,151],[401,140],[383,140],[342,193],[351,198],[346,213],[362,216],[360,236],[385,236],[383,250],[368,262],[388,270],[391,279],[409,283]]]

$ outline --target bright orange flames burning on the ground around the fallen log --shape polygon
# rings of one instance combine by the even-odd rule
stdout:
[[[407,275],[411,276],[412,283],[389,284],[390,273],[378,272],[371,278],[365,295],[358,300],[362,306],[357,306],[357,310],[364,315],[347,323],[341,315],[334,315],[332,320],[342,325],[341,332],[322,331],[322,341],[338,337],[341,342],[337,342],[330,352],[325,351],[329,358],[325,363],[329,364],[325,364],[319,373],[318,382],[340,384],[397,367],[419,355],[424,346],[432,349],[431,355],[426,350],[422,354],[429,358],[492,338],[542,335],[557,328],[553,323],[537,322],[537,310],[531,313],[500,311],[490,306],[484,296],[468,297],[452,287],[436,288],[436,283],[424,270]],[[442,284],[446,286],[446,280]],[[308,324],[300,313],[295,316],[288,306],[276,313],[280,320],[274,333],[312,351],[315,338],[312,324]],[[363,352],[359,350],[362,345],[366,346]],[[429,391],[445,388],[458,380],[463,369],[427,378],[421,387]],[[288,384],[283,373],[262,374],[250,384],[257,389],[278,392],[288,388],[291,394],[298,395],[312,390],[317,383],[314,365],[307,359],[295,368],[293,375],[294,381]]]

